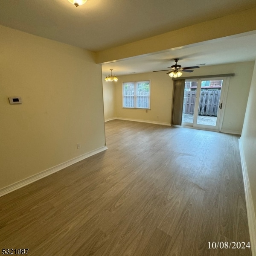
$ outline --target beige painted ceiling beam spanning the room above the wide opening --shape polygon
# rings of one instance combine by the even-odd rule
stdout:
[[[256,8],[96,52],[96,63],[107,63],[167,49],[185,47],[256,30]]]

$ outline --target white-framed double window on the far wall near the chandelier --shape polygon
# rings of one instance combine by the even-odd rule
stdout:
[[[123,86],[123,108],[150,108],[150,81],[126,82]]]

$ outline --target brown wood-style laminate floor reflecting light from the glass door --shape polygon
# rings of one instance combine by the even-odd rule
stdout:
[[[0,198],[30,256],[251,256],[239,137],[113,120],[108,150]],[[214,245],[214,244],[213,244]]]

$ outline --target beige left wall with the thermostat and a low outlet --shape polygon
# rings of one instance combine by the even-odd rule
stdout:
[[[0,35],[3,188],[104,146],[105,132],[93,52],[4,26]],[[9,96],[21,96],[22,105],[10,105]]]

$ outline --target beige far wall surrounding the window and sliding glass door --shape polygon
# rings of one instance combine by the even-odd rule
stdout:
[[[241,134],[253,67],[254,61],[250,61],[201,67],[192,74],[183,72],[184,78],[192,75],[235,74],[234,77],[230,77],[230,85],[227,93],[227,102],[222,125],[222,130],[225,132]],[[143,81],[148,79],[151,80],[151,110],[145,111],[122,108],[122,82]],[[113,91],[111,91],[111,93],[113,93]],[[119,76],[119,81],[115,84],[115,101],[108,101],[108,103],[111,105],[111,107],[108,106],[108,108],[112,108],[113,104],[115,104],[114,112],[118,118],[170,124],[172,115],[172,80],[166,75],[166,72]],[[105,105],[108,103],[105,102]]]

